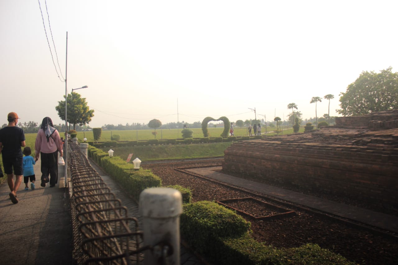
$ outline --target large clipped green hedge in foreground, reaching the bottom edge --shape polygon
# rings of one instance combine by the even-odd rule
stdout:
[[[355,264],[317,244],[275,249],[254,240],[250,222],[209,201],[183,205],[180,231],[215,264]]]

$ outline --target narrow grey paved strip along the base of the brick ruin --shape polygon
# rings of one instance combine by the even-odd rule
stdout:
[[[343,218],[348,218],[361,222],[363,224],[368,224],[375,226],[387,231],[398,233],[398,217],[381,212],[375,212],[365,208],[345,205],[343,203],[337,203],[334,201],[322,199],[319,197],[314,197],[311,195],[306,195],[298,193],[295,191],[289,191],[287,189],[282,189],[267,184],[262,184],[239,177],[233,177],[230,175],[222,174],[214,170],[220,170],[221,167],[211,167],[211,168],[192,168],[186,171],[196,173],[199,175],[204,175],[209,178],[216,179],[218,181],[223,181],[231,185],[244,187],[245,189],[250,189],[257,193],[262,193],[265,195],[270,195],[277,199],[289,201],[305,207],[320,210],[323,212],[330,212],[337,216]]]

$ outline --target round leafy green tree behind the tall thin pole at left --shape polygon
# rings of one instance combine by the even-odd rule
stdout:
[[[65,98],[65,96],[64,96]],[[83,126],[90,123],[91,118],[94,117],[94,110],[88,107],[86,98],[82,97],[76,92],[68,94],[68,115],[67,122],[73,124],[73,129],[76,129],[76,124]],[[58,106],[55,107],[58,111],[58,116],[65,120],[65,101],[58,101]]]

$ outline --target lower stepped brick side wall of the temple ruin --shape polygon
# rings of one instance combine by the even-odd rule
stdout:
[[[398,150],[391,146],[240,141],[224,151],[223,169],[398,208]]]

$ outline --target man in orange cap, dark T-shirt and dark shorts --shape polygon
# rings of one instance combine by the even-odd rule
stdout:
[[[0,153],[3,158],[4,173],[7,174],[7,183],[11,191],[9,196],[12,203],[18,203],[17,191],[20,188],[23,175],[21,146],[25,147],[25,134],[21,128],[17,127],[18,119],[17,113],[8,113],[8,126],[0,130]]]

